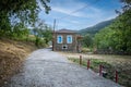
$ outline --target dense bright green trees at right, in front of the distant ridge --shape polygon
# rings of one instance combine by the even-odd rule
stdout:
[[[109,49],[131,52],[131,10],[120,14],[115,23],[95,35],[98,49]]]

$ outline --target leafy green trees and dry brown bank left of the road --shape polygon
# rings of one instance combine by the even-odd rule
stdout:
[[[50,10],[48,2],[39,0],[45,13]],[[0,1],[0,87],[22,67],[28,53],[51,39],[51,28],[38,18],[39,11],[37,0]]]

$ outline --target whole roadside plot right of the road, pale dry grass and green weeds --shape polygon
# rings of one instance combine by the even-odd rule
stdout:
[[[87,60],[90,60],[90,66],[96,73],[99,72],[99,65],[103,65],[103,70],[107,73],[105,77],[114,82],[115,72],[118,71],[118,83],[126,87],[131,86],[131,55],[60,53],[75,63],[80,63],[80,55],[82,55],[83,65],[87,66]]]

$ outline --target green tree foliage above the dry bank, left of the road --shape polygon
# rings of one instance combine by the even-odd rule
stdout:
[[[0,37],[7,37],[15,40],[33,41],[36,46],[45,46],[45,39],[39,37],[40,30],[37,30],[35,37],[29,37],[27,26],[34,26],[38,20],[39,5],[45,8],[48,13],[50,7],[47,3],[50,0],[1,0],[0,1]],[[48,41],[48,40],[47,40]],[[46,42],[47,42],[46,41]]]

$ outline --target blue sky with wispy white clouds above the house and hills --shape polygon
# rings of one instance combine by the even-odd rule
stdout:
[[[115,18],[118,16],[115,10],[122,7],[119,0],[50,0],[48,5],[51,7],[49,14],[39,5],[41,11],[38,17],[50,26],[53,26],[56,18],[56,30],[79,30]]]

